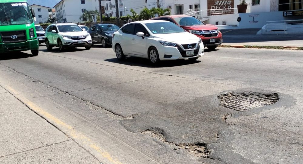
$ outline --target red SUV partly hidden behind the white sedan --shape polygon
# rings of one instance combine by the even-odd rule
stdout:
[[[150,20],[166,20],[173,22],[186,31],[195,34],[202,39],[204,47],[214,50],[222,44],[222,33],[218,27],[205,24],[199,19],[188,15],[168,15],[155,17]]]

